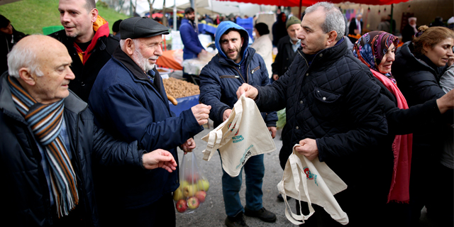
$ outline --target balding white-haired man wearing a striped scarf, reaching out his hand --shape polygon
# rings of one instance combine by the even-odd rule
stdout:
[[[31,54],[30,54],[31,53]],[[166,150],[145,153],[96,128],[87,103],[68,89],[74,79],[64,45],[45,35],[23,38],[0,77],[1,212],[13,226],[99,226],[92,162],[162,167]]]

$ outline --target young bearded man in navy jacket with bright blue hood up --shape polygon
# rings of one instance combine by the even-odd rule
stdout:
[[[223,21],[216,29],[218,55],[201,70],[201,103],[210,105],[210,118],[214,127],[230,116],[233,105],[238,101],[236,90],[243,83],[265,86],[270,83],[263,58],[248,48],[248,32],[231,21]],[[262,117],[272,133],[276,135],[277,114],[275,111],[262,113]],[[231,177],[225,171],[222,176],[222,191],[226,207],[226,226],[247,226],[243,213],[262,221],[275,222],[276,215],[262,205],[262,179],[265,175],[263,155],[250,157],[244,165],[246,174],[246,206],[243,208],[238,194],[242,175]],[[243,170],[241,170],[243,171]]]

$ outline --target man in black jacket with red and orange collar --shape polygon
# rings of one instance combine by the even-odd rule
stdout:
[[[60,23],[64,30],[50,34],[65,44],[76,78],[72,92],[88,101],[99,70],[111,59],[119,39],[109,34],[109,23],[98,15],[94,0],[60,0]]]

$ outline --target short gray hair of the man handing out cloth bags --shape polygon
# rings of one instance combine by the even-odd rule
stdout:
[[[321,1],[312,6],[307,7],[306,15],[308,13],[312,13],[321,7],[325,12],[326,18],[325,21],[321,24],[321,30],[324,33],[328,33],[330,31],[336,31],[338,33],[338,37],[336,41],[341,40],[343,35],[345,35],[345,21],[343,18],[343,14],[338,9],[338,7],[334,6],[334,4]]]

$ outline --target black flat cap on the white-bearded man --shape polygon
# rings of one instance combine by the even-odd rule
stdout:
[[[146,17],[127,18],[120,23],[121,39],[148,38],[169,34],[169,28]]]

